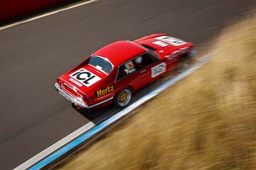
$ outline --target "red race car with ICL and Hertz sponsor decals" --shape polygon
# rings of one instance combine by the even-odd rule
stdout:
[[[55,89],[77,108],[127,106],[132,92],[175,69],[194,54],[193,43],[168,34],[117,41],[101,48],[57,79]]]

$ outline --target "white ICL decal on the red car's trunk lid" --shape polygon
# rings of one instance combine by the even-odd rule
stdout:
[[[96,76],[92,72],[88,71],[87,69],[83,69],[83,68],[75,71],[72,74],[69,74],[69,76],[76,79],[77,81],[79,81],[79,83],[82,83],[86,87],[90,87],[97,81],[101,80],[101,78],[99,76]]]

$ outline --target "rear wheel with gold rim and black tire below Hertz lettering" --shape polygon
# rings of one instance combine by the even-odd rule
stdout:
[[[114,104],[117,108],[125,108],[129,105],[132,99],[131,88],[125,88],[118,92],[114,99]]]

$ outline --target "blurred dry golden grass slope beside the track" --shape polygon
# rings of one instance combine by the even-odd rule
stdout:
[[[61,169],[256,169],[256,15],[209,64],[143,105]]]

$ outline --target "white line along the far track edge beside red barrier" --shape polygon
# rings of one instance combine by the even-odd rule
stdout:
[[[32,20],[37,20],[37,19],[39,19],[39,18],[47,17],[47,16],[49,16],[49,15],[53,15],[53,14],[59,13],[59,12],[61,12],[61,11],[66,11],[66,10],[70,10],[70,9],[72,9],[72,8],[77,8],[77,7],[82,6],[82,5],[84,5],[84,4],[93,3],[93,2],[95,2],[95,1],[99,1],[99,0],[91,0],[91,1],[86,1],[86,2],[84,2],[84,3],[74,4],[74,5],[68,6],[68,7],[66,7],[66,8],[61,8],[60,10],[51,11],[51,12],[49,12],[49,13],[45,13],[45,14],[42,14],[42,15],[39,15],[39,16],[36,16],[36,17],[33,17],[33,18],[21,20],[21,21],[19,21],[19,22],[15,22],[15,23],[10,24],[10,25],[5,25],[5,26],[3,26],[3,27],[0,27],[0,31],[3,30],[3,29],[7,29],[7,28],[10,28],[10,27],[14,27],[14,26],[16,26],[16,25],[20,25],[20,24],[24,24],[24,23],[26,23],[26,22],[30,22],[30,21],[32,21]]]

